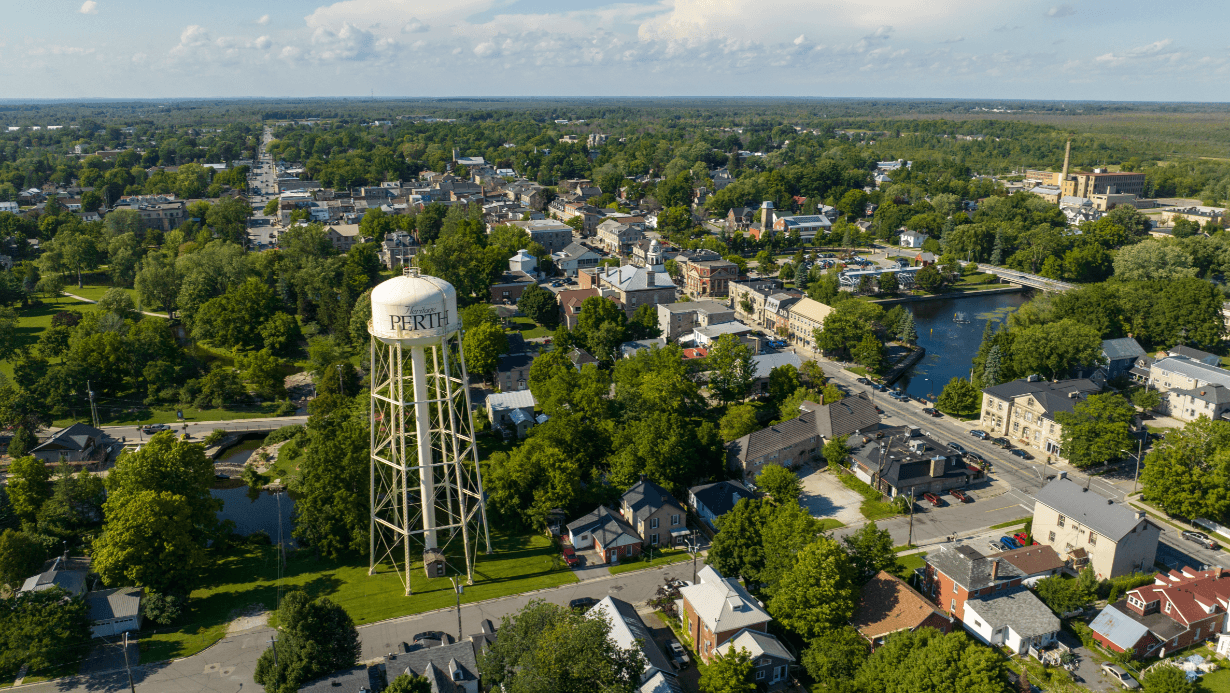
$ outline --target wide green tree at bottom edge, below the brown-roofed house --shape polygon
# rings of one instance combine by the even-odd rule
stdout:
[[[903,630],[877,647],[855,676],[866,693],[1009,693],[1004,660],[964,631]]]

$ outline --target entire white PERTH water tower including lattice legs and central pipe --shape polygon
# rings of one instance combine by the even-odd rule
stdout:
[[[371,290],[371,553],[406,595],[415,560],[443,577],[456,556],[474,583],[480,534],[491,553],[461,320],[453,284],[407,268]],[[435,572],[439,570],[439,574]],[[460,570],[460,565],[456,565]]]

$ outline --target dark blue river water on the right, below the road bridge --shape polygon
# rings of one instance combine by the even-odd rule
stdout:
[[[986,321],[1007,320],[1030,298],[1028,293],[1009,293],[904,304],[914,313],[919,346],[926,348],[926,356],[895,387],[913,396],[938,398],[948,380],[969,378]],[[964,313],[969,322],[953,322],[954,313]]]

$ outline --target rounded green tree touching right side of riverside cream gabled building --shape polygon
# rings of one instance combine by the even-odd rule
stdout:
[[[1073,411],[1059,411],[1055,422],[1063,426],[1063,454],[1075,467],[1106,464],[1124,457],[1134,438],[1132,421],[1135,409],[1122,395],[1090,395],[1076,403]]]

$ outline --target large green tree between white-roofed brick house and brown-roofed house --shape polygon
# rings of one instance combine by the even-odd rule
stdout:
[[[820,538],[796,555],[795,565],[774,587],[769,613],[803,638],[817,638],[854,614],[859,588],[850,555],[841,544]]]

